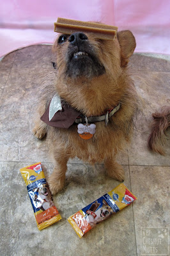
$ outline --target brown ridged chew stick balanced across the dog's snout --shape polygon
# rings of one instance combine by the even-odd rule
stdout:
[[[54,23],[54,31],[67,35],[71,35],[77,31],[83,31],[93,33],[98,39],[114,40],[118,28],[95,22],[58,18],[58,21]]]

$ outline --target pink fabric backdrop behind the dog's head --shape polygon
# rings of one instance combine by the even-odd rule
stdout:
[[[138,52],[170,54],[169,0],[0,0],[0,57],[27,45],[54,42],[58,17],[130,29]]]

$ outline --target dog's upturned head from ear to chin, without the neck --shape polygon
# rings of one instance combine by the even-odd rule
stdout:
[[[57,52],[59,74],[71,78],[117,76],[135,49],[135,38],[130,31],[120,31],[115,40],[99,40],[91,33],[59,34],[54,47]]]

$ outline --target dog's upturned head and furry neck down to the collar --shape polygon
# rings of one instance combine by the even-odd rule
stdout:
[[[92,33],[60,34],[53,46],[58,94],[87,116],[102,115],[128,93],[132,81],[125,67],[134,49],[130,31],[118,32],[114,40],[99,40]]]

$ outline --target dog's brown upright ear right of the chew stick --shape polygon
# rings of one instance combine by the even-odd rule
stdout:
[[[126,67],[128,58],[135,50],[135,37],[129,30],[118,32],[118,41],[121,48],[121,67]]]

